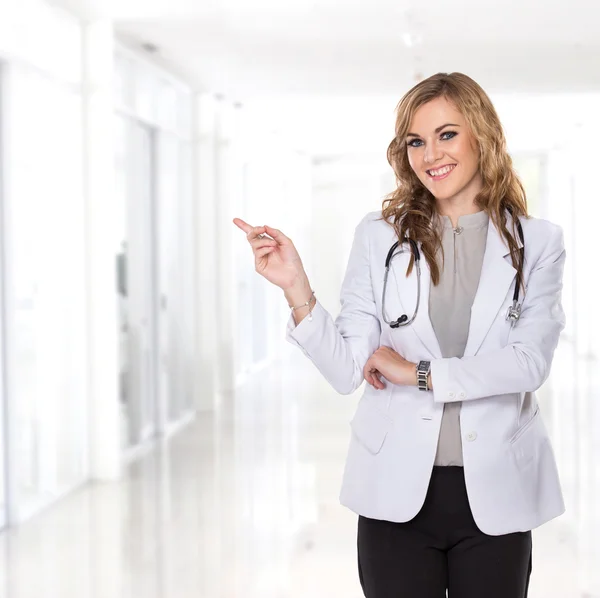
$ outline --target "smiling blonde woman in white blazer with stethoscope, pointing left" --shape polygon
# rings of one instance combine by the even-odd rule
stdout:
[[[562,231],[528,217],[469,77],[416,85],[395,131],[398,186],[356,229],[335,321],[289,238],[235,223],[292,307],[288,339],[338,392],[368,383],[341,491],[365,596],[523,598],[531,530],[564,511],[535,396],[564,327]]]

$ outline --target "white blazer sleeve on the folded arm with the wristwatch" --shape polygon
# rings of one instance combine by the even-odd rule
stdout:
[[[565,326],[561,305],[564,263],[563,232],[557,226],[529,276],[521,318],[512,327],[508,344],[473,357],[432,361],[435,402],[533,392],[546,381]]]

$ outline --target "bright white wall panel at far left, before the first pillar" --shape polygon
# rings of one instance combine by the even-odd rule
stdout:
[[[41,2],[0,6],[11,523],[89,474],[81,40]]]

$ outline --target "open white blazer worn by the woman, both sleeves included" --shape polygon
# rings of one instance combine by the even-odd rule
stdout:
[[[430,271],[421,260],[421,305],[415,321],[391,329],[381,314],[387,252],[397,239],[372,212],[356,228],[333,320],[317,302],[313,319],[290,317],[287,339],[299,346],[341,394],[363,382],[363,367],[380,346],[412,362],[431,361],[432,392],[416,386],[366,385],[351,422],[340,501],[373,519],[404,522],[425,500],[444,403],[462,401],[464,473],[475,522],[484,533],[527,531],[564,512],[558,472],[535,391],[548,377],[564,328],[561,306],[565,250],[562,229],[521,219],[525,294],[511,326],[516,271],[490,219],[481,279],[471,310],[464,357],[443,359],[428,313]],[[509,230],[510,228],[509,217]],[[386,297],[388,320],[412,315],[417,297],[410,250],[394,258]]]

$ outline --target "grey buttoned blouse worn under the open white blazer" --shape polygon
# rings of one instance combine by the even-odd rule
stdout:
[[[484,211],[460,216],[456,229],[448,216],[437,216],[435,223],[442,229],[442,248],[437,255],[441,276],[437,286],[431,284],[429,317],[442,357],[462,357],[479,286],[489,216]],[[460,408],[460,402],[444,405],[435,465],[463,465]]]

